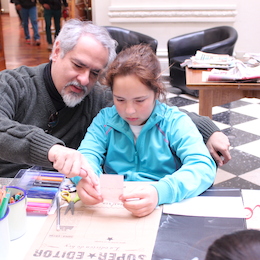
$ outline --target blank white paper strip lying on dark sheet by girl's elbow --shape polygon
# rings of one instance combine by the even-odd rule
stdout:
[[[198,196],[173,204],[165,204],[163,213],[223,218],[245,218],[246,215],[242,197],[214,196]]]

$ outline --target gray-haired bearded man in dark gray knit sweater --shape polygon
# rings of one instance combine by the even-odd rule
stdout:
[[[0,72],[0,177],[36,165],[95,182],[75,149],[100,109],[111,105],[110,91],[97,82],[115,55],[105,28],[71,19],[56,38],[49,63]],[[221,152],[227,162],[227,137],[209,118],[189,116],[215,160],[222,162]]]

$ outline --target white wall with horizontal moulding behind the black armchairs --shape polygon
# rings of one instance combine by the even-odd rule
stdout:
[[[219,25],[238,31],[235,51],[260,52],[257,0],[92,0],[93,22],[138,31],[158,40],[157,55],[167,71],[171,37]]]

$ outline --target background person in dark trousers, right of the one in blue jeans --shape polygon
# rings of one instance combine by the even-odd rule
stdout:
[[[39,0],[44,8],[45,31],[48,42],[48,49],[52,49],[51,19],[54,19],[55,38],[60,32],[60,19],[62,15],[61,0]],[[64,8],[67,9],[67,0],[62,0]]]

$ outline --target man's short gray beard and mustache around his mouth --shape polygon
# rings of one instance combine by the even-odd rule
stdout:
[[[69,86],[76,86],[78,88],[81,88],[83,90],[83,93],[75,93],[75,92],[68,92],[66,93],[66,88]],[[75,107],[76,105],[78,105],[79,103],[82,102],[82,100],[88,95],[88,88],[86,86],[83,86],[81,84],[79,84],[76,81],[71,81],[68,84],[66,84],[66,86],[62,89],[61,91],[61,96],[62,99],[64,101],[64,103],[66,104],[66,106],[68,107]]]

